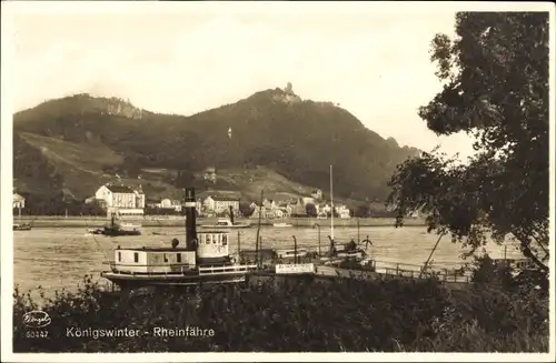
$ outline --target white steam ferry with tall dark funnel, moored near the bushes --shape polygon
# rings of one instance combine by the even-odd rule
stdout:
[[[113,251],[110,271],[101,276],[125,289],[143,286],[180,286],[201,283],[244,282],[255,264],[239,264],[229,253],[225,231],[197,232],[195,222],[195,192],[186,189],[186,245],[178,248],[126,248]],[[191,201],[192,200],[192,201]]]

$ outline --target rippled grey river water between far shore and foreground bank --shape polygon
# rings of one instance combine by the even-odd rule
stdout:
[[[157,235],[155,233],[163,233]],[[436,240],[435,234],[426,233],[424,226],[393,226],[337,228],[335,239],[340,243],[350,239],[360,240],[367,235],[373,241],[367,252],[377,261],[377,269],[391,268],[397,263],[400,269],[417,270],[427,260]],[[254,249],[257,228],[240,230],[240,246]],[[320,240],[322,251],[328,249],[330,230],[321,228]],[[262,226],[262,248],[292,248],[292,235],[297,238],[299,248],[310,248],[317,251],[319,231],[308,228],[272,228]],[[177,238],[180,244],[185,241],[183,228],[143,228],[140,236],[93,236],[82,228],[37,228],[31,231],[13,232],[13,281],[20,290],[34,290],[41,285],[46,295],[53,295],[56,290],[66,288],[73,290],[86,274],[100,280],[100,272],[108,266],[103,261],[112,260],[112,249],[120,246],[163,246]],[[520,252],[509,242],[497,245],[487,243],[485,250],[492,258],[503,258],[505,250],[507,258],[519,258]],[[230,231],[230,253],[237,252],[238,231]],[[460,244],[451,243],[445,236],[433,255],[431,268],[436,270],[454,268],[471,259],[461,260],[460,255],[467,250]],[[479,252],[479,251],[478,251]],[[481,251],[479,252],[481,253]]]

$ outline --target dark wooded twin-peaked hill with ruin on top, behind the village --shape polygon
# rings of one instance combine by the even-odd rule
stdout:
[[[76,94],[16,113],[13,127],[16,186],[36,200],[82,200],[116,175],[140,183],[153,199],[179,198],[180,188],[191,184],[250,198],[262,185],[300,195],[329,190],[330,164],[335,195],[384,200],[395,167],[418,152],[383,139],[330,102],[304,101],[290,89],[257,92],[190,117]],[[216,184],[198,178],[209,167],[217,171]]]

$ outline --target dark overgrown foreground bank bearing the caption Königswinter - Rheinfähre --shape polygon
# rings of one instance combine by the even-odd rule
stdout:
[[[21,322],[38,309],[16,291],[14,352],[547,352],[548,303],[538,291],[514,293],[437,281],[309,280],[256,285],[107,293],[90,280],[41,309],[42,339]],[[156,336],[156,329],[212,330],[205,336]],[[76,332],[137,330],[135,337]],[[207,331],[205,331],[207,332]],[[69,335],[68,335],[69,334]]]

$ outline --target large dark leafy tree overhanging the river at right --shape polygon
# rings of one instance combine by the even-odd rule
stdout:
[[[461,12],[437,34],[445,85],[420,108],[437,134],[474,135],[468,164],[436,150],[398,165],[388,203],[397,225],[423,206],[430,231],[473,249],[506,235],[540,271],[548,261],[548,13]]]

